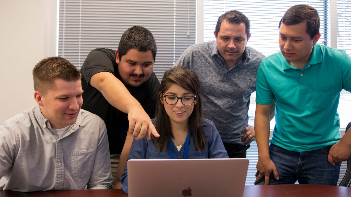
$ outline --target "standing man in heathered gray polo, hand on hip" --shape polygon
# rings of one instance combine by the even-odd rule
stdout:
[[[255,139],[247,113],[251,93],[256,91],[258,65],[265,56],[246,46],[251,36],[250,21],[239,11],[221,15],[214,36],[216,41],[187,48],[175,65],[196,72],[201,81],[204,117],[216,125],[229,157],[244,158]]]

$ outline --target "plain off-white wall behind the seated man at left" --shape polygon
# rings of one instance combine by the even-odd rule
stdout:
[[[0,123],[36,104],[32,69],[56,55],[57,0],[0,0]]]

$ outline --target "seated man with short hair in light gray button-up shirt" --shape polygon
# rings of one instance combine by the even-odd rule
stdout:
[[[106,126],[80,109],[80,72],[48,57],[33,80],[38,106],[0,125],[0,190],[111,189]]]

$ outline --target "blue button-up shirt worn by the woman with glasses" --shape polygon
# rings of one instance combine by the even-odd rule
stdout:
[[[224,148],[223,142],[219,136],[219,133],[212,121],[205,119],[203,121],[205,137],[206,137],[206,150],[197,151],[193,138],[190,138],[188,158],[189,159],[203,159],[203,158],[228,158],[227,151]],[[184,146],[181,147],[178,152],[176,146],[172,143],[172,151],[174,158],[183,159]],[[142,138],[137,141],[133,140],[131,150],[129,152],[129,159],[171,159],[170,147],[167,146],[165,152],[159,152],[157,147],[152,143],[152,140],[146,140]],[[121,175],[122,190],[128,193],[128,175],[127,165]]]

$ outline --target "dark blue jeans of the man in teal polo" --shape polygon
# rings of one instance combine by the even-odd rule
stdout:
[[[276,165],[279,180],[271,173],[269,184],[294,184],[298,181],[299,184],[336,185],[341,163],[336,163],[335,167],[329,164],[330,147],[294,152],[270,144],[269,154]],[[264,177],[256,185],[264,185]]]

